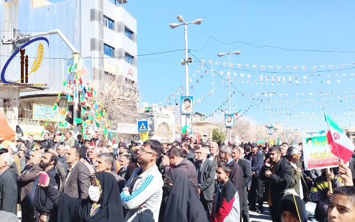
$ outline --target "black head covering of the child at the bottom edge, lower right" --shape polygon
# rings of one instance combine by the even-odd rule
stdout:
[[[299,217],[301,222],[307,222],[308,217],[304,202],[299,196],[287,193],[289,192],[286,191],[286,195],[283,196],[278,202],[278,216],[281,217],[281,213],[283,211],[290,211],[291,213],[295,214],[297,218]]]

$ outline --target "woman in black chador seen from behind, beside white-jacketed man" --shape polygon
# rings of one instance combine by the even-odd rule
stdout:
[[[163,199],[159,221],[206,222],[202,203],[185,174],[170,169],[164,174]]]

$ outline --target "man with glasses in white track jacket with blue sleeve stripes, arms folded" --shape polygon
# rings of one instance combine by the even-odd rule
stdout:
[[[139,167],[121,193],[122,205],[128,210],[125,222],[158,221],[164,182],[156,162],[162,150],[158,140],[150,139],[138,151]]]

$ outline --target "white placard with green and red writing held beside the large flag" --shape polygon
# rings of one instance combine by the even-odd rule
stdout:
[[[305,170],[339,166],[339,158],[330,151],[325,133],[312,133],[304,136],[303,158]]]

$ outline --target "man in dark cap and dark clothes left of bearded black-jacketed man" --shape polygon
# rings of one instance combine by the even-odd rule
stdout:
[[[252,186],[249,191],[249,209],[256,210],[256,202],[258,201],[258,213],[262,213],[264,212],[264,182],[259,178],[259,173],[263,167],[264,155],[258,150],[258,144],[256,142],[253,142],[250,146],[252,147],[252,150],[245,158],[252,162]]]

